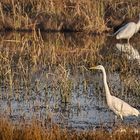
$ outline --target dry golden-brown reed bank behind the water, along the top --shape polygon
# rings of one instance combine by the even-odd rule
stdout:
[[[86,31],[102,33],[137,20],[137,0],[37,1],[7,0],[0,3],[1,31]]]

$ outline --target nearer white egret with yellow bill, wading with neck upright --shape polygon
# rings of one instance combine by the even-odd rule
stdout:
[[[124,102],[123,100],[121,100],[115,96],[112,96],[110,94],[109,87],[107,84],[105,68],[102,65],[98,65],[96,67],[91,67],[90,69],[99,69],[103,72],[103,82],[104,82],[104,87],[105,87],[107,104],[108,104],[109,108],[116,115],[120,116],[122,120],[123,120],[124,116],[135,115],[138,117],[138,115],[140,115],[140,112],[137,109],[130,106],[128,103]]]

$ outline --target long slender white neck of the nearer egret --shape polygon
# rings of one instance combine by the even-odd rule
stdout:
[[[102,72],[103,72],[103,82],[104,82],[104,87],[105,87],[106,98],[107,98],[107,100],[109,100],[110,99],[109,97],[111,96],[111,94],[110,94],[109,87],[107,84],[105,69],[102,69]]]

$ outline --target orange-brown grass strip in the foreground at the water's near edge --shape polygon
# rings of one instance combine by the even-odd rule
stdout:
[[[14,125],[7,119],[0,119],[0,139],[1,140],[138,140],[140,130],[135,127],[119,126],[109,132],[103,128],[99,130],[78,131],[60,128],[52,125],[46,128],[38,121],[19,123]]]

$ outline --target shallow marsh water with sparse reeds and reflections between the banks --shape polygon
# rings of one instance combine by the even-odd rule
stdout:
[[[15,122],[35,118],[68,128],[112,128],[115,115],[106,104],[102,73],[88,68],[104,65],[112,95],[140,110],[139,39],[126,44],[80,33],[3,35],[0,114]],[[120,123],[140,127],[140,118]]]

